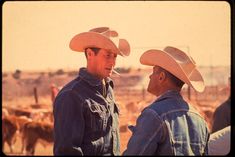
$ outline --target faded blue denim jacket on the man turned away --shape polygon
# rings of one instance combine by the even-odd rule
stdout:
[[[168,91],[146,107],[132,128],[123,155],[206,155],[205,120],[177,91]]]

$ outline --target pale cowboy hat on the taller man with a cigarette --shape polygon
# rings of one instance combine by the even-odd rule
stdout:
[[[130,54],[130,45],[127,40],[119,39],[118,33],[109,27],[98,27],[75,35],[69,47],[73,51],[84,52],[85,48],[96,47],[111,50],[121,56]]]

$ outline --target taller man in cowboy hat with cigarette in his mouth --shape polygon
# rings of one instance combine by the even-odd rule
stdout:
[[[55,99],[54,155],[119,155],[119,111],[109,77],[117,55],[129,55],[129,43],[98,27],[75,35],[69,46],[85,52],[87,66]]]

